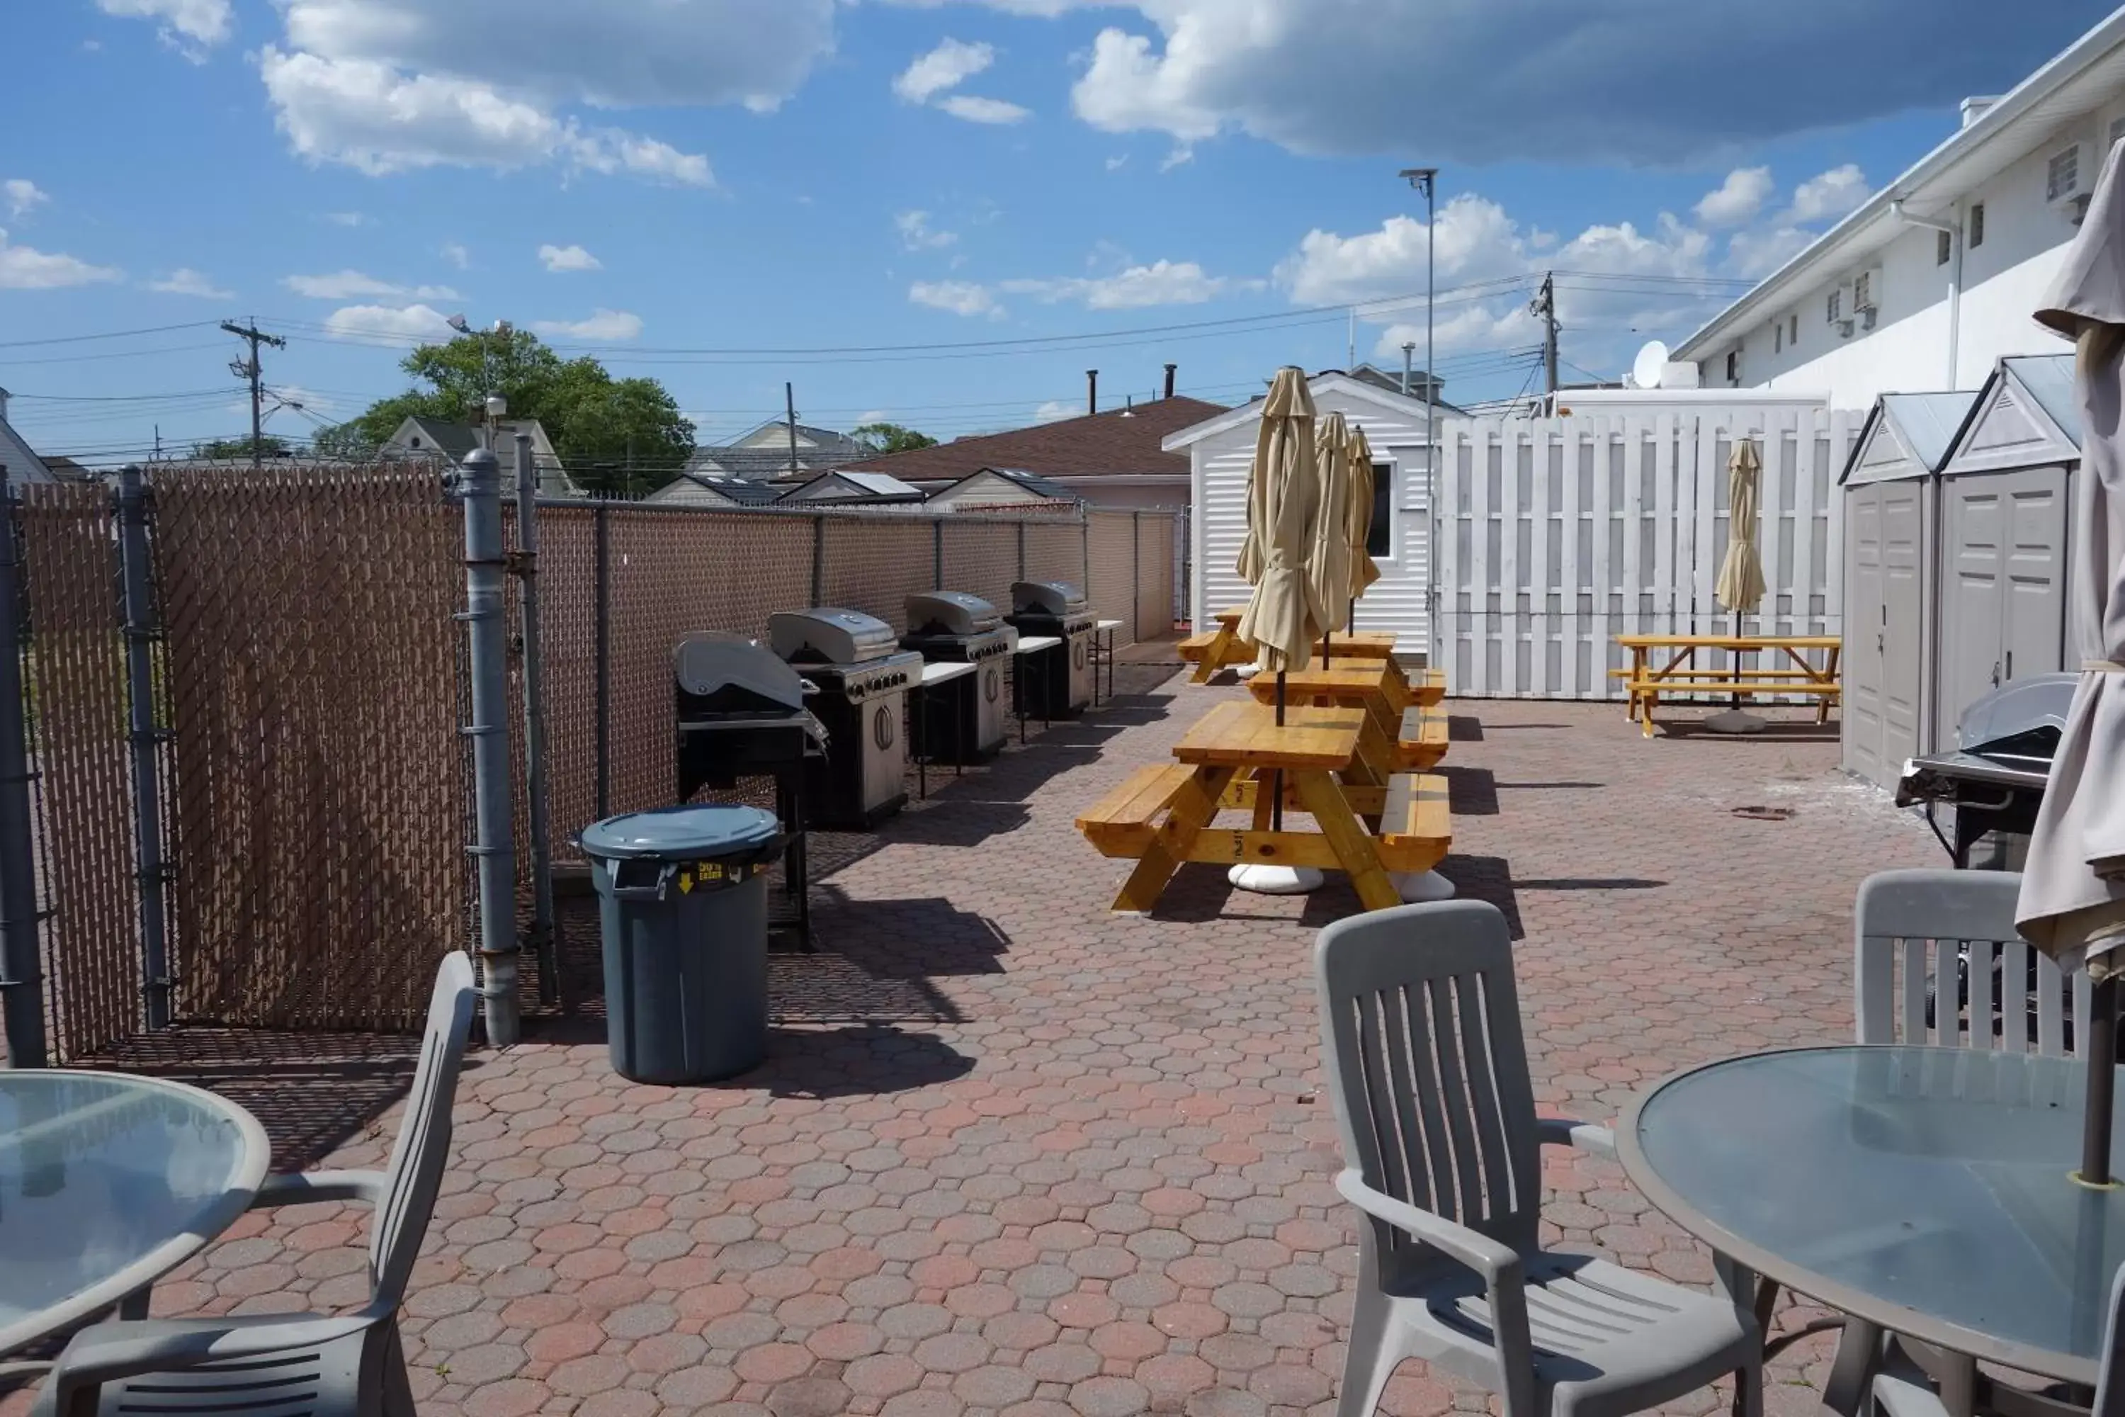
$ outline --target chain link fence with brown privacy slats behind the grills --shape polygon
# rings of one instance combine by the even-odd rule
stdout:
[[[419,1026],[434,960],[472,933],[463,520],[434,470],[151,470],[151,735],[170,1013],[255,1028]],[[49,1052],[147,1026],[119,537],[106,486],[17,503]],[[1088,582],[1120,644],[1171,629],[1173,518],[538,508],[550,848],[674,801],[672,648],[848,605],[905,633],[905,597]],[[514,542],[512,542],[514,544]],[[523,569],[523,567],[518,567]],[[1152,595],[1150,591],[1158,591]],[[512,633],[518,871],[521,673]],[[527,899],[527,897],[525,897]],[[523,905],[523,901],[521,901]],[[533,958],[525,956],[527,973]]]

